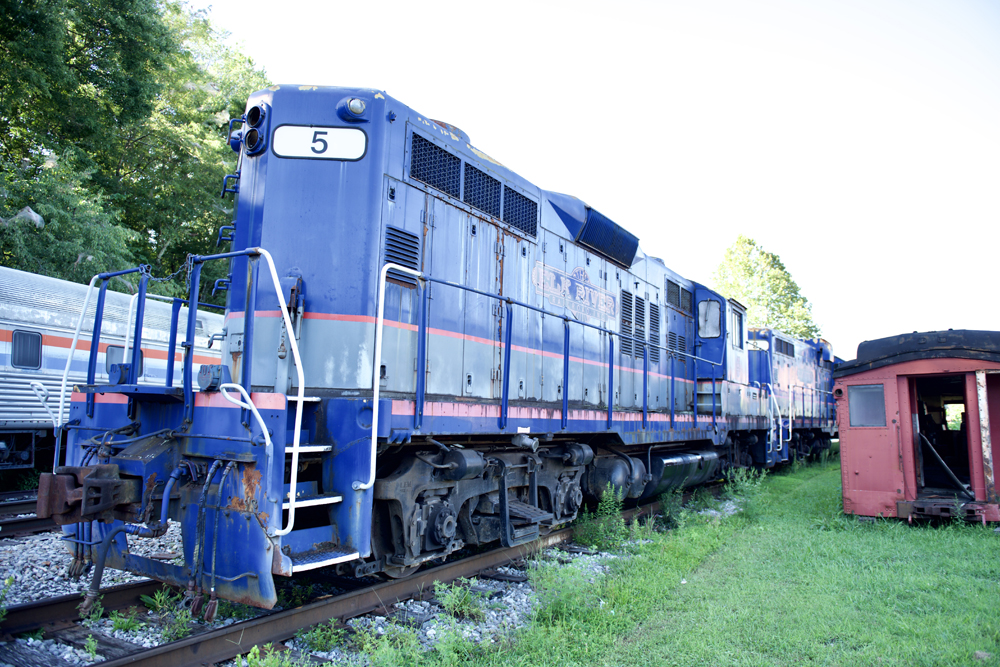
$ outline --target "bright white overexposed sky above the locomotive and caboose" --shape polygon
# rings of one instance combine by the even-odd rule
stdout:
[[[385,90],[685,277],[756,239],[845,359],[1000,330],[1000,2],[211,4],[275,83]]]

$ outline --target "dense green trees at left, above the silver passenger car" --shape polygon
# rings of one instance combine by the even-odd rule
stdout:
[[[264,73],[180,2],[4,7],[0,265],[87,282],[140,262],[165,276],[214,251],[232,217],[218,198],[236,158],[228,120]],[[44,224],[19,217],[25,207]],[[203,279],[224,272],[209,265]],[[181,281],[151,289],[186,293]]]

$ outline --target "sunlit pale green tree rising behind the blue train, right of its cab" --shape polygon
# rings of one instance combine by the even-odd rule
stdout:
[[[712,274],[713,287],[747,308],[750,326],[778,329],[800,338],[818,338],[812,304],[799,293],[781,258],[740,234]]]

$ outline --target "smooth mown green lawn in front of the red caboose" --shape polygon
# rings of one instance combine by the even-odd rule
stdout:
[[[1000,664],[991,528],[844,517],[836,464],[765,487],[757,520],[603,664]],[[992,658],[977,661],[977,651]]]

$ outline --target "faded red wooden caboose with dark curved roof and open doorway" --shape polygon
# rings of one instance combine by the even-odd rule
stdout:
[[[1000,521],[1000,332],[866,341],[833,377],[846,514]]]

